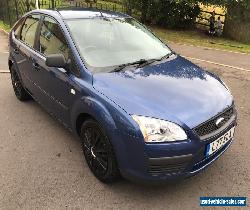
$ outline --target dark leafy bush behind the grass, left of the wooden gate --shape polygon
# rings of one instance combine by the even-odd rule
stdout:
[[[143,23],[169,28],[192,27],[200,13],[194,0],[126,0],[125,4],[140,12]]]

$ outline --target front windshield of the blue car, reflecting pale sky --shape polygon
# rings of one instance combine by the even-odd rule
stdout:
[[[145,59],[159,59],[171,50],[132,18],[67,20],[85,64],[93,72]]]

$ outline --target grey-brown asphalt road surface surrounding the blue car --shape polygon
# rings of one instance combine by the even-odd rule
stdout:
[[[250,69],[248,55],[172,47],[185,56]],[[8,70],[6,51],[0,33],[0,72]],[[195,62],[221,76],[232,90],[239,113],[235,141],[197,176],[161,186],[100,183],[71,133],[35,102],[19,102],[10,75],[0,73],[0,209],[203,209],[200,196],[249,197],[250,73]]]

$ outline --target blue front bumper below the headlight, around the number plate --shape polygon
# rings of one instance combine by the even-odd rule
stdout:
[[[121,174],[138,182],[167,182],[193,176],[218,159],[232,144],[228,141],[211,156],[206,157],[206,145],[236,126],[233,122],[226,130],[207,140],[190,139],[180,143],[145,145],[144,151],[128,154],[129,164],[121,167]],[[132,139],[131,139],[132,140]],[[135,139],[133,139],[136,141]],[[137,145],[139,147],[139,145]]]

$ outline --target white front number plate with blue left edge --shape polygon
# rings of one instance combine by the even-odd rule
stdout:
[[[231,128],[227,133],[207,145],[206,156],[210,156],[229,142],[234,136],[235,127]]]

